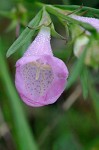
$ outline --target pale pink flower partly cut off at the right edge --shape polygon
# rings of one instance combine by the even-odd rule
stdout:
[[[77,15],[71,15],[71,17],[78,20],[78,21],[89,23],[99,32],[99,19],[77,16]]]

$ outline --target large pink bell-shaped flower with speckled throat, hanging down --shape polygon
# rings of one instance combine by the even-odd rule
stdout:
[[[42,27],[16,63],[15,85],[20,97],[34,107],[54,103],[64,91],[67,77],[66,65],[53,56],[50,28]]]

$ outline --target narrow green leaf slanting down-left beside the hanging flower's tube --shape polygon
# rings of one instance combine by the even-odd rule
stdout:
[[[11,45],[11,47],[8,49],[6,56],[9,57],[13,53],[15,53],[26,41],[30,39],[35,33],[35,28],[38,26],[42,16],[42,10],[35,16],[34,19],[31,20],[31,22],[28,24],[29,27],[33,27],[34,30],[29,29],[26,27],[26,29],[21,33],[21,35],[18,37],[18,39]]]

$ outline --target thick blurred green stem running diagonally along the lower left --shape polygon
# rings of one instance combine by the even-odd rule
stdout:
[[[6,95],[9,100],[9,105],[12,112],[12,120],[14,124],[14,131],[17,136],[19,150],[37,150],[37,146],[25,118],[20,99],[12,83],[7,63],[1,52],[0,62],[0,74],[3,79],[2,84],[4,85]]]

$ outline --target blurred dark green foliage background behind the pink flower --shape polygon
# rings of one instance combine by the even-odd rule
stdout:
[[[84,71],[80,72],[82,76],[78,73],[75,84],[52,105],[31,108],[17,94],[15,62],[32,39],[11,57],[6,58],[6,52],[40,10],[36,2],[0,0],[0,150],[99,150],[98,69],[84,65]],[[99,0],[40,2],[99,8]],[[56,30],[65,36],[62,24],[54,16],[52,20]],[[73,69],[77,59],[73,54],[70,57],[68,49],[72,50],[72,46],[66,47],[65,41],[57,38],[51,39],[51,45],[55,56],[66,62],[70,72],[73,72],[70,75],[75,76],[79,67],[78,70]]]

